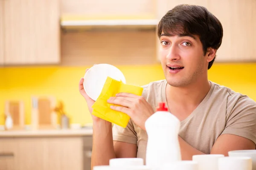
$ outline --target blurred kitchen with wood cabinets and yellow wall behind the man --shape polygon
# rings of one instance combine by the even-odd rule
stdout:
[[[80,78],[93,64],[108,63],[128,84],[164,79],[157,23],[183,3],[207,7],[224,28],[209,80],[256,100],[255,0],[0,0],[0,167],[89,170],[92,130],[81,126],[92,120]],[[61,101],[75,128],[32,128],[52,111],[38,112],[32,97],[49,96],[50,109]],[[13,105],[13,119],[26,128],[3,130],[6,101],[23,102]]]

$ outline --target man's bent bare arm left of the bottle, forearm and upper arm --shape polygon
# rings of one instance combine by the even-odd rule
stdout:
[[[103,119],[93,122],[93,152],[91,169],[94,166],[108,165],[113,158],[135,158],[137,145],[126,142],[113,142],[112,124]]]

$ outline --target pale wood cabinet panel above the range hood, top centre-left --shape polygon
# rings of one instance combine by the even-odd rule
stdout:
[[[156,0],[61,0],[61,14],[89,20],[154,19],[155,3]]]

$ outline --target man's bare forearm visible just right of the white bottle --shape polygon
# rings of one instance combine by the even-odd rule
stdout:
[[[181,159],[182,160],[192,160],[193,155],[203,155],[203,154],[205,154],[205,153],[202,153],[201,151],[195,149],[194,147],[190,146],[180,136],[179,136],[179,142],[180,142],[180,152],[181,152]]]

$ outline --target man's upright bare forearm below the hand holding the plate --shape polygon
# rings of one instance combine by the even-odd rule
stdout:
[[[112,124],[105,120],[93,122],[93,151],[91,167],[108,165],[109,159],[116,158],[113,147]]]

